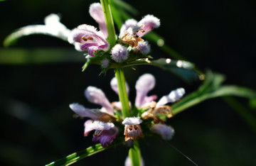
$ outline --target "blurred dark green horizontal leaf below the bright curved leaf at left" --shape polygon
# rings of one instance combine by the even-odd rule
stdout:
[[[59,62],[85,62],[73,48],[0,49],[1,65],[28,65]]]

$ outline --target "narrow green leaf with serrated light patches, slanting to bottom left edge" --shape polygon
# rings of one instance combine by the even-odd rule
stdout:
[[[110,148],[112,146],[113,145],[108,146],[107,148]],[[78,160],[81,160],[82,158],[88,157],[90,155],[94,155],[95,153],[99,153],[102,150],[106,150],[107,148],[103,148],[102,145],[100,145],[100,143],[98,143],[98,144],[92,145],[89,148],[87,148],[85,150],[82,150],[78,153],[73,153],[71,155],[68,155],[65,158],[62,158],[62,159],[57,160],[55,162],[51,162],[47,166],[50,166],[50,165],[54,165],[54,166],[56,166],[56,165],[71,165],[71,164],[77,162]]]

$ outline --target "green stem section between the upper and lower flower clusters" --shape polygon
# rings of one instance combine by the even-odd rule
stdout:
[[[117,87],[119,92],[119,101],[122,104],[122,116],[126,118],[129,116],[129,99],[125,87],[125,79],[124,79],[124,70],[122,68],[117,68],[115,70],[115,77],[117,78]]]

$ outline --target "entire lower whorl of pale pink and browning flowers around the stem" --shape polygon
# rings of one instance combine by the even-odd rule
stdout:
[[[156,133],[161,136],[164,140],[170,140],[174,135],[174,129],[171,126],[164,124],[165,118],[170,118],[171,106],[166,104],[178,101],[181,99],[185,90],[178,88],[171,91],[170,94],[162,96],[158,102],[156,95],[147,96],[149,91],[154,88],[155,78],[152,74],[143,74],[136,82],[135,88],[137,90],[137,96],[134,103],[134,108],[138,109],[139,112],[131,117],[123,118],[117,116],[122,106],[119,101],[110,103],[101,89],[96,87],[87,87],[85,89],[85,97],[88,101],[93,104],[102,106],[100,109],[87,109],[80,104],[70,104],[72,109],[77,116],[89,118],[85,121],[84,135],[87,136],[90,131],[95,131],[93,134],[92,141],[100,142],[103,147],[110,145],[114,138],[117,137],[119,131],[124,126],[124,140],[137,140],[144,137],[143,128],[140,125],[144,121],[150,121],[147,123],[147,131]],[[117,94],[117,79],[114,77],[110,85],[114,92]],[[129,87],[126,84],[127,92]],[[162,118],[164,116],[165,118]],[[120,130],[121,129],[121,130]]]

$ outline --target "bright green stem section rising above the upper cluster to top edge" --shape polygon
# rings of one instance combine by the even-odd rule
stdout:
[[[110,3],[108,0],[100,0],[102,4],[103,13],[105,16],[105,22],[107,26],[108,40],[110,43],[110,47],[112,48],[116,44],[116,33],[114,31],[114,22],[112,18],[112,13],[110,10]]]

